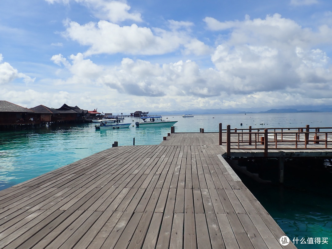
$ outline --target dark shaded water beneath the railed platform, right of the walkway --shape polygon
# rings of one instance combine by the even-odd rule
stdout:
[[[252,173],[269,169],[260,177],[274,184],[257,183],[236,173],[297,248],[332,248],[332,166],[328,159],[286,159],[282,185],[276,183],[276,159],[244,160],[240,164],[255,171]]]

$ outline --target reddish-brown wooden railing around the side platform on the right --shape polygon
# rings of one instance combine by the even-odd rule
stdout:
[[[260,132],[260,130],[263,130]],[[324,131],[320,131],[324,130]],[[223,140],[225,134],[226,140]],[[309,145],[310,144],[310,145]],[[311,144],[323,144],[314,147]],[[263,150],[267,156],[268,150],[315,150],[332,149],[332,127],[292,127],[292,128],[251,128],[249,129],[222,129],[219,124],[219,145],[226,145],[227,156],[231,149]]]

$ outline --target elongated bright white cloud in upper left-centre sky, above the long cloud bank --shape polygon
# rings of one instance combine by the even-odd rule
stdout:
[[[178,23],[179,24],[179,23]],[[209,51],[209,47],[203,42],[193,39],[185,31],[166,31],[138,27],[136,24],[131,26],[119,26],[107,21],[98,23],[87,23],[80,25],[76,22],[67,20],[66,38],[79,42],[81,45],[88,45],[90,48],[84,53],[89,56],[100,53],[124,53],[124,54],[165,54],[176,51],[181,46],[193,51],[193,46],[198,50],[195,53],[202,54]]]

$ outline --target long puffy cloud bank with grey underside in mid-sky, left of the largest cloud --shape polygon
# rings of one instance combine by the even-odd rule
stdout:
[[[64,58],[61,54],[51,60],[63,66],[71,77],[63,84],[94,84],[109,87],[122,94],[162,97],[198,96],[210,97],[220,94],[220,75],[212,69],[201,70],[193,61],[169,64],[152,64],[144,60],[124,58],[120,66],[106,67],[84,59],[81,53]]]

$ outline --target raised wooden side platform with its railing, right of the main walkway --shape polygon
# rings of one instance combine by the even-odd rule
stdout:
[[[234,128],[219,124],[227,157],[332,157],[332,127]]]

